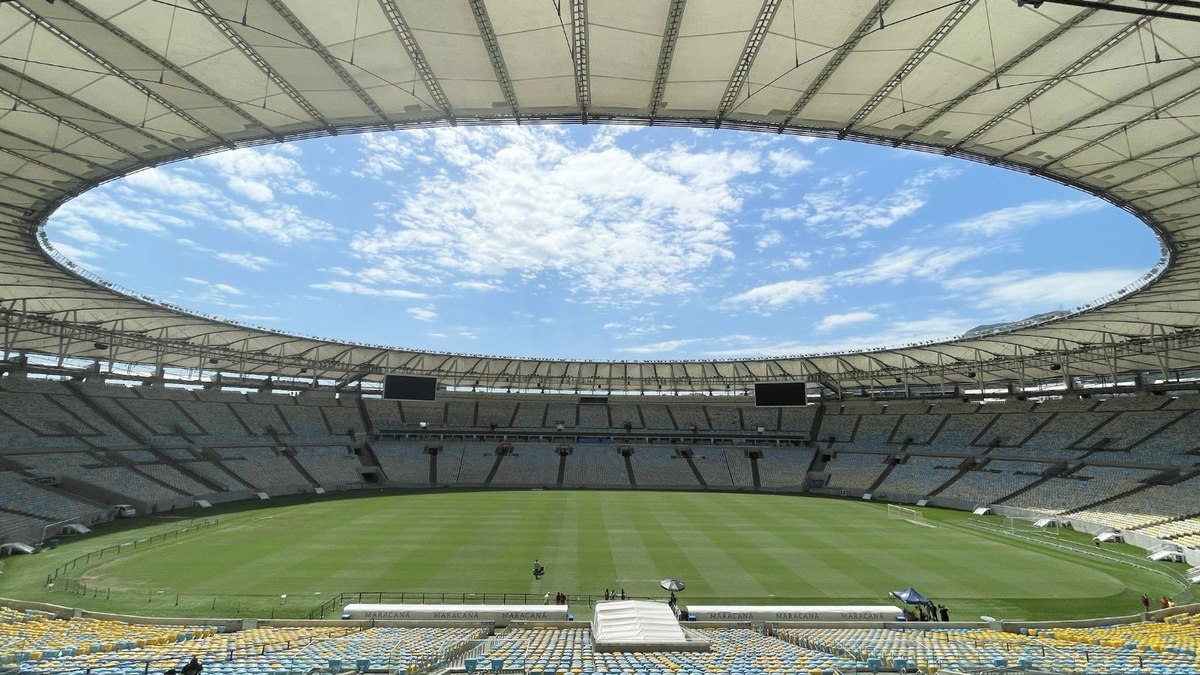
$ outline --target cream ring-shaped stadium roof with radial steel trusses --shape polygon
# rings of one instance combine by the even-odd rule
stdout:
[[[1198,2],[0,0],[4,348],[342,382],[715,389],[1033,382],[1200,364]],[[1033,5],[1038,5],[1034,7]],[[1157,14],[1157,16],[1156,16]],[[54,255],[56,207],[227,148],[431,125],[749,129],[913,148],[1091,192],[1163,261],[1085,311],[950,342],[727,362],[358,346],[118,292]]]

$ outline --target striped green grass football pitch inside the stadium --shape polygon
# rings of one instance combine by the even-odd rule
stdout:
[[[1139,598],[1190,599],[1136,549],[1085,534],[1033,540],[960,512],[782,495],[652,491],[454,491],[325,496],[160,514],[6,558],[0,596],[124,614],[302,617],[325,602],[541,602],[624,589],[684,604],[893,604],[916,587],[952,619],[1133,614]],[[197,520],[190,520],[194,516]],[[215,521],[194,527],[198,519]],[[979,519],[974,519],[979,520]],[[192,526],[187,532],[173,534]],[[991,519],[1003,530],[1006,520]],[[119,550],[118,550],[119,546]],[[104,550],[106,555],[98,555]],[[92,554],[90,561],[68,563]],[[546,574],[532,574],[534,558]],[[1120,562],[1124,560],[1127,562]],[[1130,565],[1136,563],[1136,565]],[[56,568],[67,569],[47,585]],[[463,593],[467,595],[463,598]],[[527,595],[527,596],[526,596]],[[283,597],[286,596],[286,597]]]

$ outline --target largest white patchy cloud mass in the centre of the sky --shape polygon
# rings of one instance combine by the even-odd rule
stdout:
[[[386,226],[354,238],[368,270],[402,267],[438,285],[548,275],[595,304],[689,293],[703,270],[732,259],[727,219],[742,204],[732,181],[760,159],[576,147],[557,129],[428,133],[450,168],[412,189]]]

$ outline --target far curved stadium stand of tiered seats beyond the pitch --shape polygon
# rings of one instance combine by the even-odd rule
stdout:
[[[400,402],[2,377],[0,416],[11,422],[0,425],[6,467],[60,495],[10,519],[6,528],[30,538],[71,504],[95,519],[113,503],[149,513],[256,491],[362,489],[376,464],[371,483],[382,486],[798,491],[811,470],[823,494],[998,504],[1184,546],[1200,537],[1200,504],[1181,496],[1196,485],[1200,396],[758,408],[740,396]],[[632,450],[628,464],[616,438]],[[574,447],[565,459],[564,441]],[[497,458],[502,442],[511,454]]]

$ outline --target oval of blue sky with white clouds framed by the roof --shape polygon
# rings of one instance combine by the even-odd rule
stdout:
[[[240,323],[514,357],[707,359],[943,339],[1157,261],[1087,195],[905,150],[734,131],[473,127],[143,171],[54,246]]]

